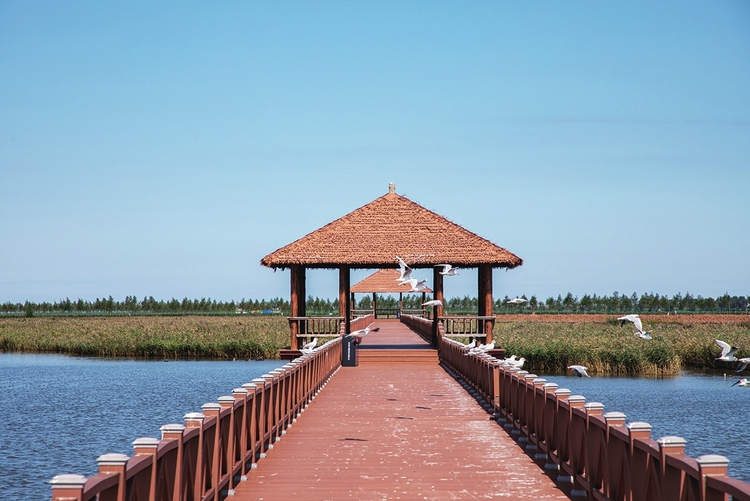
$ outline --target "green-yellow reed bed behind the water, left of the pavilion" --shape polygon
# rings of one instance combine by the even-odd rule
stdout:
[[[284,317],[0,318],[0,351],[164,359],[275,359]]]

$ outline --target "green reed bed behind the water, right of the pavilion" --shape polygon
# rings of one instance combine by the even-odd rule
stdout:
[[[548,316],[549,317],[549,316]],[[577,318],[576,318],[577,317]],[[641,316],[652,340],[634,335],[630,323],[615,316],[533,319],[501,316],[495,324],[497,346],[523,356],[534,372],[563,372],[572,364],[593,374],[674,375],[687,368],[733,371],[735,364],[717,362],[721,339],[738,346],[738,356],[750,356],[750,321],[722,315]],[[714,317],[714,318],[711,318]]]

